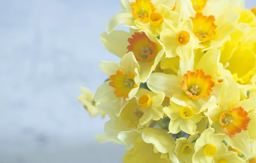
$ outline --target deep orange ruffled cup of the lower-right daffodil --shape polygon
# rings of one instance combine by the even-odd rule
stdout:
[[[239,106],[223,112],[219,117],[219,124],[229,137],[235,137],[235,134],[241,133],[242,130],[247,130],[250,120],[248,112]]]

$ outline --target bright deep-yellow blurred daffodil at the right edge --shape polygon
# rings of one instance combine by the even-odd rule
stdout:
[[[255,15],[252,14],[252,16],[255,18]],[[235,30],[230,34],[230,40],[220,48],[220,62],[240,84],[250,83],[250,79],[256,73],[256,57],[253,51],[256,30],[250,27],[250,22],[247,22],[245,20],[247,17],[244,17],[246,16],[240,17]]]

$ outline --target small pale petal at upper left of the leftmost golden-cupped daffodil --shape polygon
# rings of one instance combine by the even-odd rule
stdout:
[[[109,76],[116,74],[116,71],[119,69],[119,66],[115,62],[107,62],[107,61],[102,61],[100,62],[99,65],[101,71],[106,72]]]

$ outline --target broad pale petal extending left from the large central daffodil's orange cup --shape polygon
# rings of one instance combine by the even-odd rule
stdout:
[[[183,91],[180,86],[180,80],[176,75],[159,72],[152,73],[147,84],[150,90],[157,94],[164,92],[165,96],[172,96],[174,93],[179,94]]]

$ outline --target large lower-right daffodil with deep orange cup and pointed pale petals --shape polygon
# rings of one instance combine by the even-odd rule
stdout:
[[[240,100],[240,91],[234,79],[225,77],[222,82],[218,107],[208,109],[210,125],[217,133],[226,134],[225,141],[250,157],[250,137],[255,138],[256,97]]]

